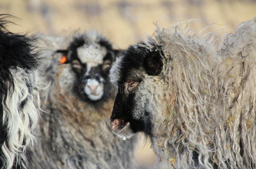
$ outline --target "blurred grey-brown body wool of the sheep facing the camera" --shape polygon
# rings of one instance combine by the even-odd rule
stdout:
[[[30,168],[132,169],[136,138],[124,141],[109,126],[114,98],[96,105],[82,101],[72,90],[76,75],[71,64],[51,63],[46,70],[52,82],[45,105],[50,114],[40,120],[39,141],[29,154]]]

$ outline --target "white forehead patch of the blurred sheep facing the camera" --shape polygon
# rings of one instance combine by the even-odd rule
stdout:
[[[107,49],[97,43],[84,44],[76,49],[78,58],[82,63],[94,62],[103,63],[103,58],[107,54]]]

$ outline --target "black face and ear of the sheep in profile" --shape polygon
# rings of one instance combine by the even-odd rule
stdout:
[[[129,138],[138,131],[152,134],[148,80],[162,74],[163,63],[158,46],[147,49],[144,45],[130,46],[110,71],[110,78],[118,85],[110,126],[120,137]]]

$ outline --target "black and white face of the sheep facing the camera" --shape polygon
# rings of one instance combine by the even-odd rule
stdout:
[[[74,92],[84,101],[103,101],[113,96],[109,71],[116,50],[104,38],[91,40],[86,34],[74,38],[68,50],[67,62],[76,74]]]

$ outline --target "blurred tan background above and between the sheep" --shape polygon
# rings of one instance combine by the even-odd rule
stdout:
[[[0,0],[1,13],[14,15],[15,33],[72,34],[95,29],[115,48],[144,40],[155,30],[153,23],[168,27],[178,20],[199,19],[196,28],[216,23],[229,32],[235,25],[256,16],[256,0]],[[156,164],[149,141],[140,139],[135,162],[146,168]]]

